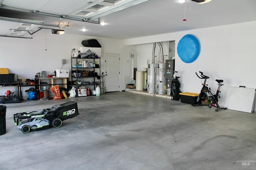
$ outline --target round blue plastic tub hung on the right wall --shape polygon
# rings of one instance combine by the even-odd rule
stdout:
[[[198,39],[192,34],[185,35],[178,43],[177,53],[184,63],[193,63],[200,54]]]

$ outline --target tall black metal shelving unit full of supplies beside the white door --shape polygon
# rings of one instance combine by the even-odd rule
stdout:
[[[90,90],[100,87],[100,58],[71,57],[71,66],[71,82],[76,88],[76,97],[80,97],[78,89],[81,86]]]

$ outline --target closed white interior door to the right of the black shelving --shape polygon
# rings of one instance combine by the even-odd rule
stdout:
[[[105,53],[106,92],[120,91],[120,54]]]

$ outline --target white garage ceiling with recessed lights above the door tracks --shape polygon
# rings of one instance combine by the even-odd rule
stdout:
[[[89,1],[97,0],[0,0],[3,5],[10,7],[69,16],[74,16],[76,12],[88,5]],[[97,2],[100,3],[100,1],[102,0]],[[185,4],[180,4],[177,0],[148,0],[101,17],[100,22],[106,23],[104,26],[64,18],[61,19],[61,22],[69,22],[69,26],[63,28],[65,34],[130,39],[256,21],[256,0],[212,0],[205,4],[187,0],[185,17],[187,21],[183,21],[184,9]],[[0,14],[0,16],[5,16],[1,7]],[[54,25],[59,22],[59,18],[56,17],[42,16],[32,12],[29,15],[31,18],[26,19],[41,20]],[[12,15],[7,17],[14,18]],[[21,23],[0,20],[0,35],[8,35],[10,29],[17,29],[18,24]],[[81,29],[87,31],[83,32]],[[28,33],[23,36],[32,37]]]

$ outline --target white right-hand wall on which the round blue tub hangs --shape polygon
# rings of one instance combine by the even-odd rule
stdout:
[[[139,70],[146,66],[148,59],[151,63],[153,42],[168,44],[174,40],[177,49],[178,42],[186,34],[193,34],[199,39],[201,53],[194,63],[184,63],[175,51],[175,68],[179,72],[182,92],[200,92],[202,83],[195,74],[198,71],[210,76],[207,83],[214,93],[218,88],[215,79],[224,80],[219,100],[221,106],[225,104],[228,86],[256,88],[256,21],[127,39],[124,43],[137,44],[137,62],[143,63]],[[158,45],[155,54],[159,56],[157,48]],[[163,48],[164,55],[168,55],[166,45]]]

